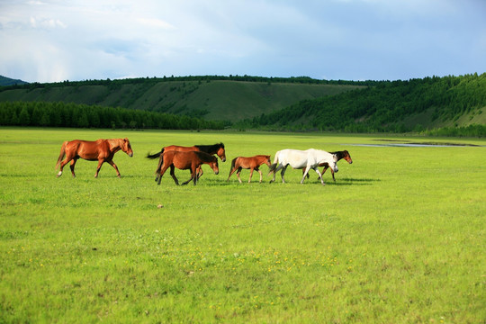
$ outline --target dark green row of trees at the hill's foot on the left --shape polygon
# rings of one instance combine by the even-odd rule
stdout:
[[[76,103],[3,102],[0,125],[160,130],[221,130],[222,121]]]

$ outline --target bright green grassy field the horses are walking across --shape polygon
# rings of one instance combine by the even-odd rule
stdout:
[[[0,322],[483,323],[484,147],[479,139],[246,132],[0,128]],[[111,166],[67,139],[130,139]],[[378,139],[378,140],[377,140]],[[380,140],[385,139],[386,141]],[[224,142],[220,175],[154,182],[169,144]],[[337,182],[289,169],[287,184],[226,181],[230,160],[282,148],[347,149]],[[267,173],[267,166],[262,166]],[[248,171],[242,172],[247,180]],[[187,171],[176,171],[180,180]],[[279,175],[277,175],[277,180]],[[162,205],[162,208],[157,208]]]

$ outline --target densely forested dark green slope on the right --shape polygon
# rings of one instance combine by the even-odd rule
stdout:
[[[486,74],[382,82],[239,123],[241,128],[420,131],[486,124]],[[484,129],[484,126],[482,127]]]

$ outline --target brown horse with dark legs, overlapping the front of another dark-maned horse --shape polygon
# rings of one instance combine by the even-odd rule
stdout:
[[[166,173],[167,168],[170,167],[170,175],[175,181],[175,184],[179,185],[179,181],[175,177],[174,170],[175,167],[181,170],[191,170],[191,178],[184,182],[184,184],[189,184],[191,180],[194,181],[194,185],[196,184],[199,177],[197,176],[197,168],[202,166],[203,164],[207,164],[211,166],[212,171],[214,174],[217,175],[220,172],[218,168],[218,158],[211,156],[210,154],[199,152],[199,151],[191,151],[191,152],[180,152],[175,150],[169,150],[160,156],[160,160],[158,161],[158,166],[156,170],[156,182],[160,184],[162,180],[162,175]]]

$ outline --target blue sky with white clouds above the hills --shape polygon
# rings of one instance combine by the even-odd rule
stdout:
[[[0,0],[0,75],[408,80],[486,72],[486,0]]]

